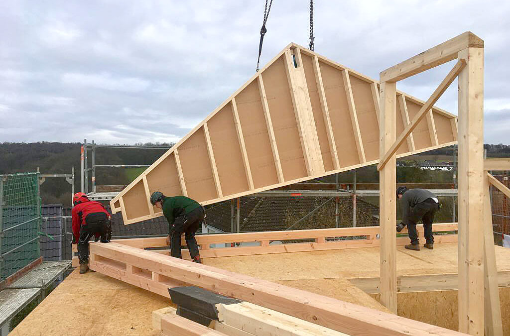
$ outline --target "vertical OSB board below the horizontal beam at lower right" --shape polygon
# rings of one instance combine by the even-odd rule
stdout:
[[[379,300],[379,294],[370,294]],[[510,287],[499,288],[503,334],[510,335]],[[458,291],[410,292],[397,294],[398,315],[458,330]]]

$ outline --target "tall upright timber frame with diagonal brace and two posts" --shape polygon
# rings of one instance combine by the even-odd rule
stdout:
[[[404,139],[409,141],[420,120],[428,116],[429,107],[458,76],[459,330],[502,335],[488,187],[491,178],[484,173],[483,161],[483,47],[483,40],[466,32],[380,72],[380,292],[381,303],[396,312],[395,152]],[[404,131],[397,132],[396,82],[452,60],[457,62],[443,82]],[[491,165],[504,163],[486,163],[486,167]]]

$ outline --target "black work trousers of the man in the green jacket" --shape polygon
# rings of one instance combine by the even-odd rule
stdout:
[[[173,225],[170,226],[170,255],[176,258],[182,258],[181,254],[181,236],[184,233],[186,245],[190,251],[191,259],[200,256],[198,252],[198,244],[195,239],[195,232],[200,228],[203,221],[203,208],[192,210],[188,214],[175,218]]]

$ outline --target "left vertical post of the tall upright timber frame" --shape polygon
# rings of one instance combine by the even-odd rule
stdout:
[[[380,84],[379,153],[388,151],[396,135],[395,82]],[[391,152],[389,165],[379,171],[379,225],[380,225],[380,291],[381,303],[397,313],[397,260],[396,260],[396,158]]]

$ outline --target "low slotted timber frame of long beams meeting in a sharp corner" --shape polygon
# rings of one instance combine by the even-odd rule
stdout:
[[[455,223],[436,224],[435,230],[454,231]],[[422,228],[420,228],[420,231]],[[197,236],[203,247],[214,242],[261,241],[375,235],[378,227],[253,232],[247,234]],[[218,236],[218,237],[215,237]],[[456,235],[451,236],[456,240]],[[442,236],[438,236],[442,237]],[[407,239],[407,238],[406,238]],[[119,244],[118,242],[122,242]],[[352,242],[355,242],[353,240]],[[127,246],[125,244],[133,246]],[[112,243],[91,243],[89,267],[97,272],[168,297],[168,288],[198,286],[288,314],[349,335],[462,335],[456,331],[383,313],[270,281],[192,263],[142,248],[166,245],[165,239],[140,238]],[[299,245],[301,243],[286,244]],[[317,243],[321,244],[321,243]],[[322,244],[334,244],[325,242]],[[139,248],[134,247],[138,245]],[[310,244],[308,244],[310,245]],[[338,247],[337,247],[338,248]],[[236,250],[238,248],[224,248]],[[207,252],[207,249],[200,251]],[[273,252],[272,252],[273,253]],[[254,253],[251,253],[254,254]]]

